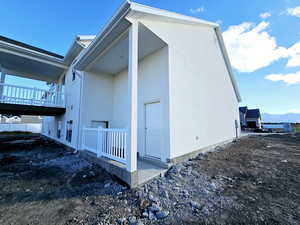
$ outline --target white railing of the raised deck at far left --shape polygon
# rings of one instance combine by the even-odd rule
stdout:
[[[0,103],[64,107],[64,96],[58,91],[0,83]]]

